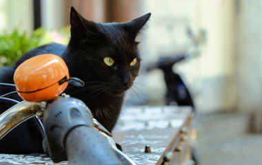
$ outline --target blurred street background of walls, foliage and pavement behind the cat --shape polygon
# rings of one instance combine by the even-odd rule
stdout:
[[[160,57],[187,54],[172,69],[201,114],[201,164],[261,164],[262,1],[0,0],[0,67],[32,47],[66,44],[70,6],[97,22],[151,12],[137,37],[143,63],[126,104],[165,104],[163,72],[147,68]]]

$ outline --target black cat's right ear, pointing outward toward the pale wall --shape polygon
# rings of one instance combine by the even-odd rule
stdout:
[[[139,31],[141,30],[141,28],[143,28],[143,25],[145,25],[150,16],[151,13],[148,13],[143,15],[142,17],[124,23],[123,28],[126,32],[128,32],[128,34],[130,34],[130,38],[132,40],[136,38],[137,34],[139,34]]]

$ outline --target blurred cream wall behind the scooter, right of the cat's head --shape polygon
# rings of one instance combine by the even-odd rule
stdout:
[[[201,55],[179,63],[174,69],[183,76],[199,111],[235,109],[234,0],[148,0],[144,6],[146,12],[152,12],[145,58],[157,61],[159,56],[187,49],[188,26],[196,34],[199,29],[205,30],[207,38]],[[161,86],[152,87],[156,89],[155,96],[159,96]]]

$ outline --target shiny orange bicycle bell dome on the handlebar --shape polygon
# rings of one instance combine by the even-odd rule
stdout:
[[[47,101],[68,86],[69,72],[60,56],[42,54],[24,61],[14,72],[14,85],[23,100]]]

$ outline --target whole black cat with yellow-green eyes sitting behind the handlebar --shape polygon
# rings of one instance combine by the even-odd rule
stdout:
[[[68,46],[52,43],[23,55],[13,67],[0,72],[1,83],[13,83],[14,70],[26,59],[39,54],[57,54],[66,61],[70,76],[81,78],[85,87],[68,87],[66,94],[88,105],[108,131],[117,122],[125,91],[139,73],[141,58],[135,38],[150,13],[127,23],[94,23],[71,8],[71,39]],[[10,89],[0,89],[5,94]],[[0,112],[8,104],[0,102]],[[17,126],[0,140],[0,153],[43,153],[42,137],[34,120]]]

